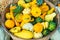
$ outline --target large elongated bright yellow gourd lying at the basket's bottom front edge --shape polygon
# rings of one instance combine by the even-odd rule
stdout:
[[[21,32],[15,33],[14,35],[25,39],[33,38],[33,33],[27,30],[22,30]]]

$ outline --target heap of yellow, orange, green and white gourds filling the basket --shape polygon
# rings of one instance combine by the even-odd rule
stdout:
[[[5,27],[20,38],[42,38],[52,32],[57,24],[55,9],[44,0],[19,0],[10,5]]]

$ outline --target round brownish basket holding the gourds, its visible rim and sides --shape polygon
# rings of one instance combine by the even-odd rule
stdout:
[[[10,3],[17,3],[17,1],[18,0],[10,0],[9,1],[9,4]],[[54,7],[54,5],[53,4],[51,4],[49,1],[47,1],[47,0],[44,0],[50,7]],[[8,35],[10,35],[12,38],[13,38],[13,40],[48,40],[51,36],[52,36],[52,34],[55,32],[55,30],[52,32],[52,33],[50,33],[49,35],[47,35],[46,37],[43,37],[43,38],[41,38],[41,39],[21,39],[21,38],[18,38],[18,37],[16,37],[16,36],[14,36],[13,34],[11,34],[6,28],[5,28],[5,25],[4,25],[4,22],[5,22],[5,13],[7,12],[6,10],[8,9],[8,5],[9,4],[7,4],[6,5],[6,7],[4,7],[4,9],[3,9],[3,11],[2,11],[2,13],[1,13],[1,15],[2,15],[2,26],[4,27],[4,30],[5,30],[5,32],[7,32],[8,33]],[[56,12],[58,13],[58,11],[57,11],[57,9],[56,9]],[[57,14],[58,15],[58,14]],[[58,18],[59,18],[59,16],[56,16],[56,22],[57,22],[57,25],[58,25]],[[58,26],[57,26],[58,27]]]

